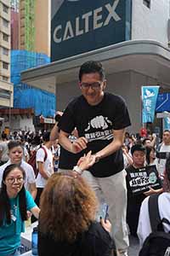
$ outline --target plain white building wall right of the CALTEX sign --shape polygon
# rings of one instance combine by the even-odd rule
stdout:
[[[152,39],[167,46],[169,0],[150,0],[150,9],[143,0],[133,0],[132,39]]]

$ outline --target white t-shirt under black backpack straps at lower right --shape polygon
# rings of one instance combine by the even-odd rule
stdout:
[[[151,233],[148,201],[149,201],[149,196],[144,199],[140,207],[139,224],[138,224],[138,230],[137,230],[140,247],[142,247],[144,240]],[[158,207],[159,207],[161,219],[167,218],[170,221],[170,211],[169,211],[170,193],[164,192],[159,196]],[[165,232],[170,231],[170,226],[168,224],[163,224],[163,227]]]

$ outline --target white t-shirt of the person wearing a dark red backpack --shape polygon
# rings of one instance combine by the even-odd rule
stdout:
[[[36,154],[36,161],[44,163],[45,172],[48,174],[48,177],[50,177],[54,173],[53,154],[51,150],[45,147],[44,145],[43,145],[43,148],[46,149],[47,159],[44,161],[45,152],[42,148],[39,148]],[[36,179],[37,188],[44,188],[46,183],[47,183],[47,179],[43,178],[40,172],[38,172],[37,179]]]

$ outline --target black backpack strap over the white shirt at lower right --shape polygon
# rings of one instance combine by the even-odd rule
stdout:
[[[150,227],[152,232],[156,232],[158,229],[158,225],[161,224],[161,217],[159,213],[158,207],[158,197],[160,194],[150,195],[148,207],[149,207],[149,215],[150,215]],[[162,226],[162,225],[161,225]],[[161,227],[163,230],[163,227]]]

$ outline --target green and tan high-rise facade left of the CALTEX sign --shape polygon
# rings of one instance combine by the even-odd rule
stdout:
[[[19,49],[50,56],[50,0],[20,0]]]

